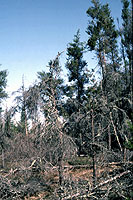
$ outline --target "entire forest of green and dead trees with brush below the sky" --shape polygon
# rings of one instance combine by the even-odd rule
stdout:
[[[132,1],[121,3],[116,24],[108,4],[91,0],[88,40],[77,30],[65,50],[67,80],[57,52],[3,109],[8,71],[0,71],[1,200],[133,198]]]

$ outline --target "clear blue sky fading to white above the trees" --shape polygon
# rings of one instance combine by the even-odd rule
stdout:
[[[121,0],[101,0],[106,2],[115,19],[120,17]],[[81,40],[87,39],[90,5],[91,0],[0,0],[0,70],[8,70],[8,92],[21,86],[23,75],[26,86],[33,83],[78,29]]]

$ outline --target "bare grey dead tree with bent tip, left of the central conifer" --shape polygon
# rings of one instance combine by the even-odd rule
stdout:
[[[64,124],[60,121],[58,110],[58,106],[61,105],[60,94],[58,93],[60,91],[57,89],[60,82],[59,57],[63,52],[58,53],[56,58],[49,62],[49,72],[44,74],[40,84],[43,98],[41,108],[45,119],[40,139],[42,146],[45,146],[43,147],[45,160],[58,166],[60,186],[63,184],[63,159],[67,154],[70,155],[76,150],[73,146],[74,142],[63,133]]]

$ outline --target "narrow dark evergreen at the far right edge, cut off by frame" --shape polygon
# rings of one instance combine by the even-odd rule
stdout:
[[[129,0],[122,1],[122,28],[120,30],[121,36],[121,53],[124,63],[124,79],[125,79],[125,94],[132,95],[133,78],[133,39],[132,39],[132,8]]]

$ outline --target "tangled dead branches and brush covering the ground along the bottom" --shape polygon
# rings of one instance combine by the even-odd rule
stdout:
[[[113,163],[104,168],[97,166],[96,186],[93,185],[89,157],[76,156],[65,162],[61,186],[57,166],[46,169],[40,167],[41,163],[37,161],[29,167],[24,167],[22,163],[24,160],[17,163],[18,166],[8,162],[5,163],[7,168],[0,170],[1,200],[93,200],[94,197],[99,200],[124,200],[122,196],[125,200],[132,199],[132,163],[119,166]]]

